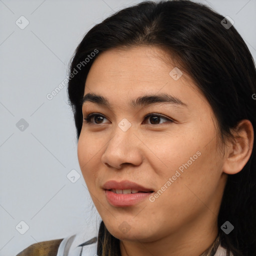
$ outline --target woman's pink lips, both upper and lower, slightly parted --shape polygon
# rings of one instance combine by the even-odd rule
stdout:
[[[117,194],[109,189],[135,189],[142,192],[130,193],[130,194]],[[104,183],[103,189],[105,190],[105,195],[108,202],[117,207],[131,206],[138,203],[141,200],[146,199],[153,192],[153,189],[146,188],[135,182],[129,180],[115,181],[109,180]],[[146,193],[145,193],[146,192]]]

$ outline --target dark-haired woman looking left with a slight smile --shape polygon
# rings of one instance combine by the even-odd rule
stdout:
[[[145,1],[95,25],[68,95],[102,222],[31,253],[256,255],[255,83],[232,22],[202,4]]]

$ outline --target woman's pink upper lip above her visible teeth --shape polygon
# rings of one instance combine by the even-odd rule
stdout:
[[[129,181],[129,180],[122,180],[122,181],[116,181],[116,180],[108,180],[105,182],[102,186],[104,189],[135,189],[142,192],[151,192],[153,189],[146,188],[142,185],[139,185],[135,182]]]

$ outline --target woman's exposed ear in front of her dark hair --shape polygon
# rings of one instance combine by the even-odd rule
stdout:
[[[235,174],[242,170],[249,160],[253,147],[253,126],[247,119],[239,121],[232,129],[234,140],[230,139],[225,145],[223,172]]]

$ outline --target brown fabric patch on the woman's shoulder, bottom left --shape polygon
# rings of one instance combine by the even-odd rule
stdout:
[[[63,238],[34,243],[19,252],[16,256],[55,256],[62,240]]]

